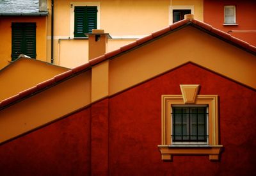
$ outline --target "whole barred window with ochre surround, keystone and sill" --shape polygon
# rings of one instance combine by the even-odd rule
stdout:
[[[218,160],[218,95],[197,95],[199,85],[180,85],[182,95],[162,95],[163,160],[173,155],[209,155]]]

